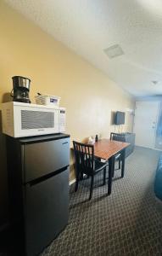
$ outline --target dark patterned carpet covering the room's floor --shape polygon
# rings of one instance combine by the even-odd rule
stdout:
[[[159,152],[136,148],[126,159],[124,178],[116,171],[112,194],[96,176],[92,201],[89,180],[78,191],[70,187],[70,220],[42,256],[162,255],[162,211],[154,198],[154,174]]]

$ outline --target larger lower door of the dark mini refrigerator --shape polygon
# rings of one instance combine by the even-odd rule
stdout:
[[[68,224],[69,168],[41,183],[25,185],[25,251],[40,253]]]

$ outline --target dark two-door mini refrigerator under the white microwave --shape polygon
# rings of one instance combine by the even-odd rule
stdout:
[[[10,223],[22,255],[33,256],[68,224],[70,136],[6,141]]]

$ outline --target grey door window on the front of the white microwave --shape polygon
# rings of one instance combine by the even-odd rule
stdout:
[[[43,129],[54,127],[54,113],[21,110],[21,128],[28,129]]]

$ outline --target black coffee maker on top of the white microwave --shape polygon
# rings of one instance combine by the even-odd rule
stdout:
[[[12,79],[13,90],[11,91],[11,96],[13,97],[13,101],[31,103],[29,99],[31,79],[20,76],[14,76]]]

